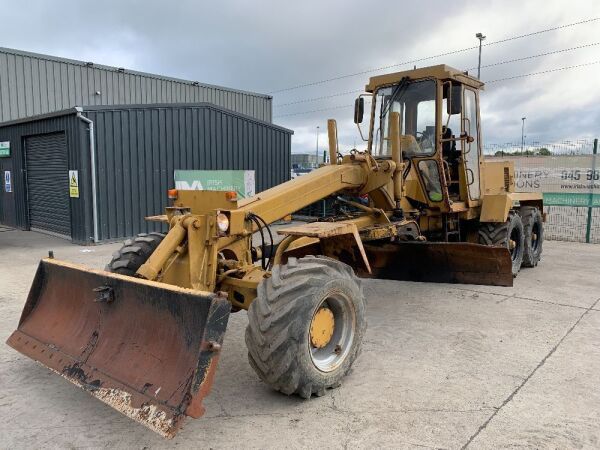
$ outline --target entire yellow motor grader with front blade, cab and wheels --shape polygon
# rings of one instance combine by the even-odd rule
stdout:
[[[171,191],[168,233],[126,241],[106,271],[42,260],[8,344],[173,437],[203,414],[229,314],[246,309],[258,376],[323,395],[360,351],[357,275],[511,286],[539,261],[542,198],[484,161],[482,87],[444,65],[371,78],[354,114],[360,131],[370,98],[365,151],[342,156],[330,120],[330,163],[307,175],[248,199]],[[346,211],[268,243],[273,222],[330,196]]]

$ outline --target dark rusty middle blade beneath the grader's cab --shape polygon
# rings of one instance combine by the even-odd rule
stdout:
[[[513,285],[512,261],[504,247],[463,242],[406,242],[365,245],[365,250],[375,278]]]

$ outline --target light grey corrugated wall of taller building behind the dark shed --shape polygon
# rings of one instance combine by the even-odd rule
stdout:
[[[0,47],[0,122],[78,105],[198,102],[272,120],[267,95]]]

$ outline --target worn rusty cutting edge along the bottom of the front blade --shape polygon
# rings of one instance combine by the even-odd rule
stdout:
[[[23,344],[21,342],[17,342],[17,339],[20,337],[24,337],[32,343],[35,343],[36,350],[34,351],[32,348],[23,348]],[[182,425],[183,420],[186,417],[185,414],[178,413],[168,406],[163,407],[163,405],[161,405],[160,402],[157,402],[156,400],[152,399],[152,397],[149,397],[148,395],[142,394],[141,392],[137,391],[135,391],[135,395],[137,397],[144,398],[146,401],[143,402],[139,408],[132,406],[133,395],[127,391],[127,386],[113,380],[111,377],[105,374],[102,374],[103,384],[110,384],[114,387],[103,388],[89,383],[85,383],[77,377],[69,376],[64,372],[61,372],[60,370],[45,364],[43,361],[40,360],[40,352],[42,348],[44,350],[47,350],[48,354],[60,353],[61,359],[71,363],[64,365],[67,369],[69,367],[74,367],[75,365],[77,365],[77,367],[82,370],[87,369],[84,370],[87,371],[87,373],[101,373],[93,367],[90,367],[86,364],[78,363],[78,361],[73,359],[72,357],[53,349],[52,346],[39,342],[35,338],[32,338],[31,336],[19,330],[16,330],[8,338],[6,343],[21,354],[33,359],[35,362],[45,367],[46,369],[51,370],[52,372],[60,375],[61,377],[73,383],[74,385],[83,389],[84,391],[90,393],[98,400],[102,401],[103,403],[106,403],[108,406],[116,409],[120,413],[126,415],[127,417],[135,420],[138,423],[141,423],[142,425],[146,426],[155,433],[158,433],[167,439],[172,439],[177,434],[179,428]],[[36,355],[36,353],[38,354]],[[197,399],[197,401],[199,400],[200,399]]]

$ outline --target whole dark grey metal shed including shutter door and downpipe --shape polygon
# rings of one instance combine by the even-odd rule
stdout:
[[[155,231],[144,217],[163,211],[174,170],[255,170],[260,192],[289,179],[292,133],[209,103],[86,106],[3,123],[10,189],[0,191],[0,223],[76,243]]]

